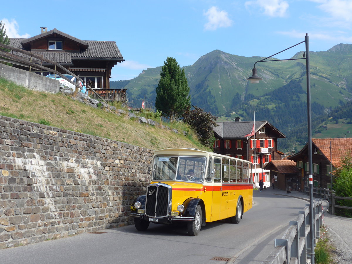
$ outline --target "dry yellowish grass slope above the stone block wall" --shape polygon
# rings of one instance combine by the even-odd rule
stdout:
[[[0,115],[93,134],[148,149],[190,147],[208,150],[183,122],[168,125],[170,130],[141,124],[128,115],[108,113],[71,99],[61,93],[36,92],[0,78]],[[189,131],[183,136],[182,130]]]

